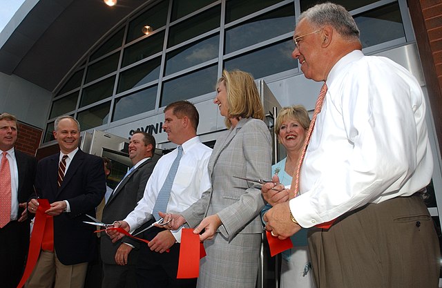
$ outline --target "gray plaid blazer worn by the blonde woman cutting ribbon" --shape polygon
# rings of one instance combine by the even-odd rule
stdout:
[[[218,214],[218,232],[229,241],[238,233],[262,233],[260,186],[233,176],[271,179],[271,136],[265,123],[241,119],[226,131],[213,148],[209,175],[212,189],[182,212],[187,224],[196,227],[206,215]]]

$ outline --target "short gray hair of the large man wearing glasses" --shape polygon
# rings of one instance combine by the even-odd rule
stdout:
[[[352,15],[343,6],[330,2],[317,4],[302,12],[299,21],[304,18],[318,28],[330,25],[346,39],[360,41],[359,28]]]

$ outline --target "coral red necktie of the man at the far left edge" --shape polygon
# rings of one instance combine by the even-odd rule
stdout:
[[[11,220],[11,171],[7,154],[8,152],[3,152],[0,165],[0,228],[5,227]]]

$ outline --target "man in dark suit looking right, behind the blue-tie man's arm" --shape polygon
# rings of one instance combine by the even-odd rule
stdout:
[[[145,132],[135,132],[129,143],[129,157],[133,168],[117,185],[103,210],[103,222],[113,223],[124,219],[143,198],[144,188],[151,176],[156,161],[152,159],[155,151],[155,138]],[[115,243],[111,238],[101,238],[103,260],[103,288],[136,287],[135,263],[140,243],[131,238],[123,238]]]

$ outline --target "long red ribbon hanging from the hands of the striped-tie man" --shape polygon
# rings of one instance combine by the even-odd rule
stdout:
[[[40,255],[40,250],[54,251],[54,222],[51,215],[44,213],[50,209],[50,204],[47,199],[37,199],[39,207],[35,213],[34,227],[32,227],[32,234],[29,243],[28,260],[26,260],[26,268],[21,277],[17,288],[23,287],[26,280],[34,270],[37,260]]]

